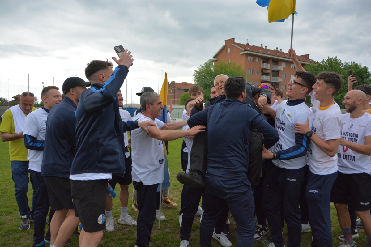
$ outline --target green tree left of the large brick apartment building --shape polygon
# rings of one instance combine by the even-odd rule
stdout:
[[[193,73],[193,81],[195,84],[200,85],[204,90],[204,99],[210,98],[210,88],[214,83],[215,76],[217,75],[227,75],[229,77],[242,76],[246,78],[246,71],[242,68],[241,64],[236,63],[225,63],[220,60],[218,64],[214,62],[207,61],[206,63],[197,67]],[[179,103],[180,104],[180,103]]]

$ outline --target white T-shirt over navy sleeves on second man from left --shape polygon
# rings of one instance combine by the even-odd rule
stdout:
[[[39,108],[29,115],[24,120],[23,135],[31,135],[37,140],[45,141],[46,119],[49,113],[44,109]],[[27,159],[29,160],[28,169],[41,172],[41,163],[43,162],[42,150],[28,150]]]

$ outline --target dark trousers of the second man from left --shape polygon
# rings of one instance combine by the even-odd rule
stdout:
[[[50,203],[46,182],[41,172],[30,170],[30,176],[32,177],[36,191],[35,213],[33,214],[33,242],[39,244],[44,241],[45,221],[47,213],[49,212]],[[53,214],[54,212],[50,213],[50,215]],[[49,217],[49,220],[51,220],[51,217]],[[48,231],[50,231],[50,227]]]

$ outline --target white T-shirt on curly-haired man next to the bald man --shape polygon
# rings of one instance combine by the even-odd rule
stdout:
[[[321,110],[319,101],[311,95],[314,121],[311,130],[322,140],[340,139],[343,126],[341,110],[337,103],[329,108]],[[317,175],[328,175],[338,171],[338,157],[329,157],[314,142],[311,142],[308,150],[309,170]]]

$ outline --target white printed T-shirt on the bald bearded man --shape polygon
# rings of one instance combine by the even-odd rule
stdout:
[[[342,115],[343,129],[341,137],[347,141],[364,145],[366,136],[371,136],[371,115],[363,114],[360,118],[351,118],[350,113]],[[347,146],[339,145],[338,167],[344,174],[371,174],[370,156],[359,154]]]

